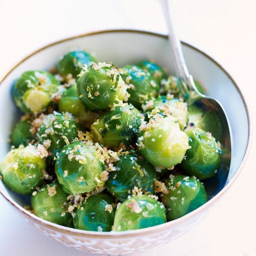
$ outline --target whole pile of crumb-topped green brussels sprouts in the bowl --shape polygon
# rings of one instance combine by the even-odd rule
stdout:
[[[177,78],[159,65],[117,69],[74,51],[51,73],[24,72],[12,95],[24,115],[0,177],[31,195],[38,217],[125,231],[177,219],[207,201],[201,181],[221,163],[220,143],[204,122],[214,114],[187,106]]]

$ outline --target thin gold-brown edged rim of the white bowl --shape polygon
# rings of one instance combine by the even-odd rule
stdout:
[[[69,41],[69,40],[73,40],[76,38],[80,38],[80,37],[86,37],[86,36],[90,36],[90,35],[95,35],[95,34],[103,34],[103,33],[138,33],[138,34],[146,34],[146,35],[151,35],[151,36],[156,36],[156,37],[160,37],[160,38],[164,38],[164,39],[168,39],[168,36],[165,34],[161,34],[161,33],[156,33],[156,32],[152,32],[152,31],[146,31],[146,30],[135,30],[135,29],[107,29],[107,30],[99,30],[99,31],[92,31],[92,32],[88,32],[88,33],[82,33],[76,36],[71,36],[71,37],[66,37],[64,39],[61,40],[57,40],[54,41],[52,43],[49,43],[43,47],[40,47],[39,49],[33,51],[32,53],[28,54],[26,57],[24,57],[23,59],[21,59],[18,63],[16,63],[2,78],[0,78],[0,85],[2,84],[2,82],[8,77],[8,75],[17,67],[19,66],[21,63],[23,63],[25,60],[27,60],[28,58],[30,58],[31,56],[33,56],[34,54],[49,48],[51,46],[54,46],[56,44],[65,42],[65,41]],[[12,205],[16,208],[16,210],[20,211],[23,215],[25,215],[28,219],[36,222],[37,224],[43,225],[46,228],[49,228],[51,230],[57,231],[57,232],[61,232],[61,233],[65,233],[68,235],[75,235],[75,236],[79,236],[79,237],[83,237],[83,238],[98,238],[98,239],[122,239],[122,238],[129,238],[131,236],[133,237],[139,237],[139,236],[144,236],[147,234],[154,234],[157,232],[162,232],[165,231],[167,229],[170,229],[171,227],[174,227],[176,225],[179,225],[180,222],[184,222],[186,220],[188,220],[189,218],[194,217],[196,214],[198,214],[199,212],[203,212],[206,208],[208,208],[209,204],[213,204],[215,203],[217,200],[219,200],[222,195],[225,193],[225,191],[227,191],[227,189],[230,188],[231,184],[236,180],[236,178],[238,177],[238,175],[241,173],[241,170],[245,164],[245,161],[249,155],[249,149],[251,147],[251,143],[252,143],[252,121],[251,121],[251,112],[249,110],[249,107],[246,103],[246,100],[244,98],[244,95],[242,94],[239,86],[237,85],[237,83],[235,82],[235,80],[233,79],[233,77],[216,61],[214,60],[212,57],[210,57],[207,53],[203,52],[202,50],[199,50],[198,48],[196,48],[195,46],[181,41],[182,45],[187,46],[189,48],[191,48],[192,50],[202,54],[203,56],[205,56],[207,59],[209,59],[211,62],[213,62],[215,65],[217,65],[224,73],[225,75],[231,80],[231,82],[234,84],[234,86],[236,87],[242,101],[243,104],[245,106],[246,109],[246,115],[247,115],[247,120],[248,120],[248,143],[247,143],[247,147],[243,156],[243,159],[241,161],[240,166],[238,167],[238,170],[236,171],[235,175],[232,177],[232,179],[229,181],[228,184],[225,185],[224,188],[222,188],[222,190],[215,195],[212,199],[210,199],[208,202],[206,202],[204,205],[200,206],[199,208],[197,208],[196,210],[176,219],[176,220],[172,220],[157,226],[153,226],[153,227],[148,227],[148,228],[144,228],[144,229],[137,229],[137,230],[129,230],[129,231],[118,231],[118,232],[97,232],[97,231],[86,231],[86,230],[80,230],[80,229],[74,229],[74,228],[69,228],[69,227],[65,227],[65,226],[61,226],[49,221],[46,221],[44,219],[41,219],[39,217],[37,217],[36,215],[30,213],[29,211],[25,210],[23,207],[21,207],[18,203],[16,203],[9,195],[7,195],[1,188],[0,188],[0,194],[2,194],[2,196]]]

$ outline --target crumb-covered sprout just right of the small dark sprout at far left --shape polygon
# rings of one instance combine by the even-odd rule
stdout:
[[[43,124],[38,131],[38,141],[46,145],[48,156],[53,160],[57,152],[77,137],[79,129],[82,129],[81,124],[77,123],[70,113],[61,114],[54,111],[43,118]]]

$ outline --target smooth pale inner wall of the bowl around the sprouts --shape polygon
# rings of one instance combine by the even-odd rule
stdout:
[[[173,57],[169,50],[168,40],[161,35],[138,31],[108,31],[71,38],[49,45],[23,60],[1,82],[0,161],[9,151],[10,145],[7,141],[10,131],[21,115],[10,93],[15,80],[27,70],[49,70],[56,65],[62,55],[75,49],[88,51],[99,61],[111,61],[116,67],[134,64],[143,59],[155,60],[167,69],[168,74],[174,74]],[[222,103],[229,118],[233,134],[232,166],[230,169],[233,177],[243,160],[249,139],[249,119],[243,96],[230,76],[206,54],[184,43],[182,49],[189,72],[194,79],[201,81],[206,87],[207,95]],[[210,194],[215,195],[223,188],[227,172],[228,170],[224,168],[223,177],[218,177],[222,179],[222,182],[215,180],[217,187],[215,184],[214,191],[210,191],[209,186]],[[8,190],[3,182],[0,182],[0,188],[19,205],[29,204],[29,197],[20,196]]]

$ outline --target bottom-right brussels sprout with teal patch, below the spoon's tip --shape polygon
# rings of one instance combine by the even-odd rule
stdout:
[[[204,185],[195,177],[170,175],[165,186],[168,194],[164,194],[162,200],[169,221],[192,212],[207,201]]]

